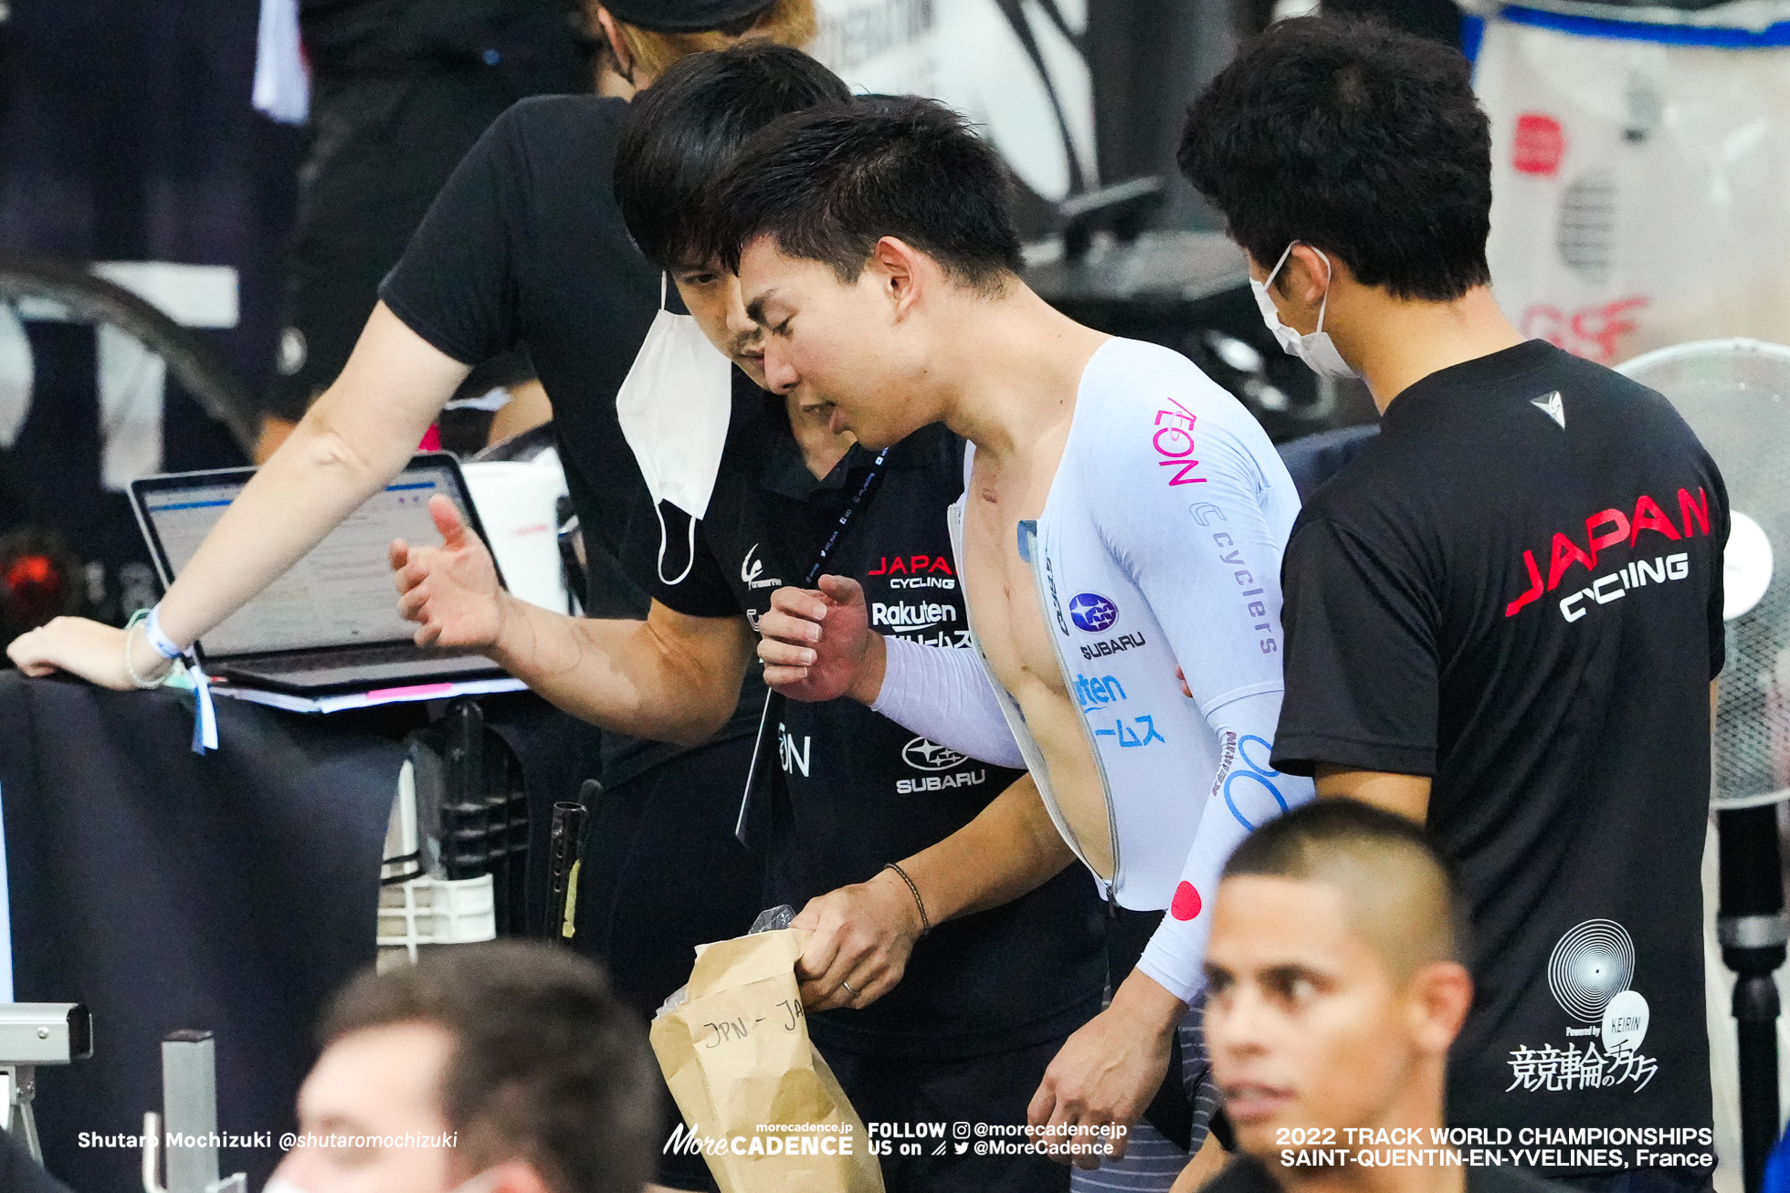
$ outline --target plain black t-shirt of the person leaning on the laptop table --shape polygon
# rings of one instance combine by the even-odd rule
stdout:
[[[379,297],[456,361],[528,349],[553,401],[560,460],[584,528],[591,617],[646,617],[619,562],[630,524],[657,535],[646,481],[616,419],[621,388],[659,309],[659,272],[621,224],[610,177],[626,106],[594,95],[523,100],[448,179]],[[637,529],[637,533],[646,533]],[[757,728],[757,671],[718,737]],[[614,787],[677,753],[603,735]]]

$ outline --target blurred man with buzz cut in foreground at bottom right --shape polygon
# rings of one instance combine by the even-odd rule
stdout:
[[[1473,1000],[1462,912],[1423,830],[1355,800],[1294,808],[1237,848],[1206,946],[1206,1048],[1242,1154],[1203,1188],[1559,1189],[1464,1168],[1439,1139]]]

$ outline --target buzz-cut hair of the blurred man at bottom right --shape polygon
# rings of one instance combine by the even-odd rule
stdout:
[[[1461,960],[1468,948],[1466,898],[1453,867],[1436,850],[1428,832],[1398,812],[1377,808],[1360,800],[1312,800],[1267,821],[1242,839],[1224,862],[1224,878],[1262,875],[1269,878],[1321,880],[1337,862],[1384,876],[1389,862],[1414,864],[1421,884],[1445,903],[1411,907],[1414,916],[1436,916],[1441,950]],[[1409,891],[1409,887],[1407,887]]]

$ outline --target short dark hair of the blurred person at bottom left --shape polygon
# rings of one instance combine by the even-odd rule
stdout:
[[[473,1166],[526,1159],[553,1193],[635,1193],[652,1177],[646,1030],[592,962],[524,941],[433,950],[356,977],[319,1036],[328,1046],[396,1023],[453,1036],[440,1098]]]

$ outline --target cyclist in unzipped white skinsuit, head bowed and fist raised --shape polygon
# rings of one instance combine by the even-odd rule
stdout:
[[[981,658],[874,631],[916,613],[822,576],[771,596],[766,683],[861,699],[1033,773],[900,859],[900,876],[811,900],[798,971],[823,1005],[866,1005],[931,925],[1078,855],[1112,900],[1113,1000],[1063,1043],[1027,1120],[1078,1168],[1104,1177],[1122,1148],[1122,1188],[1167,1189],[1176,1170],[1126,1172],[1142,1130],[1112,1150],[1076,1138],[1149,1121],[1203,1141],[1187,1068],[1164,1080],[1194,1034],[1201,887],[1248,825],[1312,792],[1266,764],[1274,578],[1298,503],[1267,436],[1190,361],[1079,326],[1026,286],[1004,177],[956,113],[882,98],[786,122],[718,188],[718,252],[766,329],[771,385],[831,404],[829,426],[872,449],[931,422],[977,449],[954,549]]]

